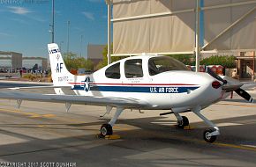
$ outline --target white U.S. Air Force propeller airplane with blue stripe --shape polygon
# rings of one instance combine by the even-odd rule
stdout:
[[[49,44],[49,61],[56,94],[2,91],[0,98],[65,103],[69,111],[72,104],[105,105],[106,113],[117,108],[114,117],[101,127],[101,135],[113,134],[112,127],[124,109],[169,110],[177,118],[177,127],[189,125],[180,113],[192,112],[210,128],[204,131],[206,142],[215,142],[220,130],[200,111],[228,96],[231,91],[252,102],[242,90],[243,85],[227,76],[192,72],[182,62],[161,55],[141,55],[113,62],[88,76],[74,76],[64,65],[59,47]],[[36,87],[34,87],[36,88]],[[37,87],[40,88],[40,87]],[[105,113],[105,114],[106,114]]]

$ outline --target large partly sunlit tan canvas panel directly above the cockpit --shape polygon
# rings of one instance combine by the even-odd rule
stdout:
[[[192,0],[114,0],[113,18],[115,20],[194,7],[195,1]],[[114,21],[113,52],[191,52],[194,50],[194,22],[192,11],[164,17]]]

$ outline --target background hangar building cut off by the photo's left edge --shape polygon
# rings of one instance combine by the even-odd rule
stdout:
[[[0,51],[0,71],[18,70],[22,68],[22,54]]]

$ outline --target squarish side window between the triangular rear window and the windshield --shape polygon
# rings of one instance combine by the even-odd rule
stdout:
[[[124,72],[126,78],[143,77],[142,60],[132,59],[124,63]]]

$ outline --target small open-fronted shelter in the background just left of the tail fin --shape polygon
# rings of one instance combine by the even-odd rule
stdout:
[[[47,70],[48,59],[43,57],[23,57],[22,64],[23,68],[26,69],[33,69],[36,67],[36,70]]]

